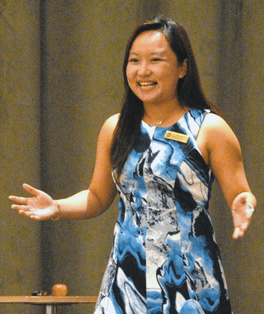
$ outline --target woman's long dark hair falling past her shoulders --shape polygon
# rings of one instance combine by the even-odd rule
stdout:
[[[129,87],[126,72],[132,44],[139,34],[147,30],[159,30],[164,34],[179,65],[182,65],[183,61],[187,59],[186,75],[179,79],[177,85],[177,98],[180,105],[189,108],[211,109],[219,114],[219,111],[206,99],[202,91],[191,43],[183,27],[166,18],[154,18],[138,25],[131,35],[125,51],[123,63],[125,95],[110,149],[111,166],[115,170],[116,177],[120,175],[133,148],[144,115],[143,102]]]

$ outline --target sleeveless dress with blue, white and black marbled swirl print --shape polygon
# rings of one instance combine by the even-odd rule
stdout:
[[[190,109],[171,127],[142,122],[113,173],[119,215],[94,314],[232,313],[207,212],[214,177],[196,142],[208,112]]]

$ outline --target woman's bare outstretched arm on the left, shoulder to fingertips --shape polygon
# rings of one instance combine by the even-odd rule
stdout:
[[[32,220],[54,219],[58,215],[67,219],[88,219],[102,214],[116,196],[116,186],[111,175],[110,143],[117,120],[118,114],[111,116],[100,131],[94,174],[87,190],[55,202],[45,192],[23,184],[24,189],[33,196],[29,198],[9,196],[10,200],[18,203],[11,207]],[[56,203],[60,207],[60,212]]]

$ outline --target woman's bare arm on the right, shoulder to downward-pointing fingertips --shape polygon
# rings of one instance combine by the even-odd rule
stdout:
[[[244,236],[256,208],[256,198],[248,185],[234,132],[224,119],[209,113],[202,123],[197,143],[232,211],[233,238]]]

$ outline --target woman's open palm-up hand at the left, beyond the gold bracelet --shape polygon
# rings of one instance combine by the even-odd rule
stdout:
[[[39,221],[45,219],[55,219],[58,217],[58,206],[53,199],[40,190],[24,183],[25,191],[32,194],[32,197],[9,196],[9,199],[18,204],[11,205],[11,208],[19,212],[23,217]]]

